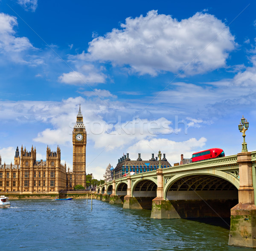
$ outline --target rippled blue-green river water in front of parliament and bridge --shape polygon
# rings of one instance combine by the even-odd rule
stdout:
[[[92,211],[90,200],[11,203],[0,209],[0,250],[250,250],[227,245],[229,229],[221,219],[211,224],[154,220],[150,210],[122,209],[99,200],[93,200]]]

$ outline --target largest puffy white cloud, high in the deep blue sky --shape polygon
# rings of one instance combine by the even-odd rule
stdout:
[[[225,66],[235,46],[229,28],[213,15],[196,13],[178,21],[153,10],[94,38],[88,54],[78,58],[130,65],[139,74],[184,70],[193,75]]]

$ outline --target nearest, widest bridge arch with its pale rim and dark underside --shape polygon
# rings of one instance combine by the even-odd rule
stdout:
[[[164,198],[181,218],[229,218],[238,203],[239,183],[231,175],[221,171],[175,175],[166,183]]]

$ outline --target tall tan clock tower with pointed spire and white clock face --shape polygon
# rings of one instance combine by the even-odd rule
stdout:
[[[83,123],[81,107],[76,116],[76,125],[73,128],[73,179],[72,185],[83,185],[86,188],[86,131]]]

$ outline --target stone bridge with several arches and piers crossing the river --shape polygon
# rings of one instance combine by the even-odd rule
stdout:
[[[231,215],[229,245],[256,247],[255,170],[256,151],[241,152],[105,182],[96,197],[153,219]]]

